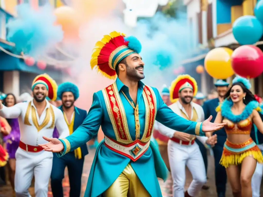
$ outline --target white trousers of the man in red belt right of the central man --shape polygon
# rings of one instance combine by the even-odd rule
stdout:
[[[184,196],[185,166],[190,170],[193,180],[188,188],[190,196],[198,195],[206,183],[205,164],[199,146],[180,145],[172,140],[168,141],[168,157],[173,178],[173,197]]]

